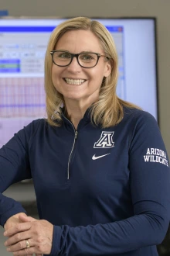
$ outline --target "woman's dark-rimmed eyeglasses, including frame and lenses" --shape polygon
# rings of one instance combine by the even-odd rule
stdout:
[[[73,57],[76,57],[78,64],[85,68],[95,67],[100,57],[106,57],[107,60],[109,59],[109,57],[105,55],[90,52],[70,54],[70,52],[64,50],[52,50],[50,51],[50,54],[52,56],[53,63],[59,67],[69,66],[73,61]]]

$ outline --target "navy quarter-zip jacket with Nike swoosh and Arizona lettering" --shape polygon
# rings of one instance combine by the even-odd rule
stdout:
[[[32,178],[39,218],[54,225],[51,255],[157,256],[170,217],[168,155],[153,116],[124,109],[117,126],[74,129],[37,119],[0,150],[0,192]],[[0,196],[0,223],[25,212]]]

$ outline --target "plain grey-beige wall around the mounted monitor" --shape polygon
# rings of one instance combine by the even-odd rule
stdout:
[[[10,16],[145,17],[158,19],[158,100],[160,128],[170,157],[169,0],[0,0]]]

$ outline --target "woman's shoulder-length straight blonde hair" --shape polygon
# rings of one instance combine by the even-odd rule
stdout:
[[[53,30],[49,38],[49,44],[45,57],[45,91],[46,91],[46,113],[47,122],[52,126],[61,124],[60,106],[64,103],[63,95],[57,92],[52,81],[52,57],[50,51],[54,50],[56,43],[64,33],[70,30],[84,29],[90,30],[100,41],[104,53],[109,57],[111,72],[107,78],[103,79],[100,87],[99,97],[90,108],[90,116],[93,124],[100,124],[103,128],[114,126],[121,122],[124,117],[124,106],[138,108],[129,102],[119,99],[116,94],[118,64],[117,51],[114,40],[105,26],[100,22],[87,17],[77,17],[66,20]],[[52,118],[53,116],[53,118]]]

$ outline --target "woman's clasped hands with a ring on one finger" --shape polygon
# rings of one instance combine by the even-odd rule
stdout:
[[[42,256],[50,254],[53,242],[53,225],[46,220],[19,215],[20,223],[5,230],[7,251],[14,255]]]

